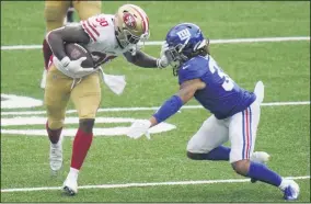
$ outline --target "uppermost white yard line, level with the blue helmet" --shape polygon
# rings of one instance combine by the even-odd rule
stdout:
[[[233,44],[233,43],[268,43],[268,42],[289,42],[309,41],[310,36],[292,37],[258,37],[258,38],[233,38],[233,39],[210,39],[210,44]],[[145,45],[162,45],[162,41],[146,42]],[[3,45],[1,50],[41,49],[42,45]]]

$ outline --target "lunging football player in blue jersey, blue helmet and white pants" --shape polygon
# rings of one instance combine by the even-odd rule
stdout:
[[[127,136],[148,136],[148,129],[175,114],[195,98],[209,116],[191,138],[187,157],[194,160],[227,160],[234,171],[279,188],[285,200],[296,200],[299,185],[269,170],[264,162],[268,155],[254,151],[260,123],[264,86],[256,83],[254,92],[239,87],[217,65],[209,54],[209,41],[193,23],[182,23],[166,35],[162,54],[169,59],[174,75],[178,76],[180,90],[171,97],[149,120],[136,121]],[[222,146],[230,140],[231,148]]]

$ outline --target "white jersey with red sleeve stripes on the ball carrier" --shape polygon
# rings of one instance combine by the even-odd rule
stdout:
[[[99,14],[80,22],[91,38],[85,48],[91,52],[96,63],[104,64],[126,52],[136,49],[136,45],[129,45],[125,48],[119,46],[113,21],[114,15]]]

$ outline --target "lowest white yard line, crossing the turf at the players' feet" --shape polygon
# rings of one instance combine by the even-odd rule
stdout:
[[[302,180],[310,179],[310,175],[288,177],[286,179]],[[163,185],[196,185],[196,184],[217,184],[217,183],[244,183],[250,179],[227,179],[227,180],[203,180],[203,181],[169,181],[154,183],[119,183],[119,184],[102,184],[102,185],[81,185],[78,189],[123,189],[123,188],[140,188],[140,186],[163,186]],[[55,191],[61,190],[61,186],[43,186],[43,188],[22,188],[22,189],[1,189],[1,193],[12,192],[30,192],[30,191]]]

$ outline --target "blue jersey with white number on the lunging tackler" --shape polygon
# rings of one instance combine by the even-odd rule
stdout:
[[[211,56],[197,56],[178,69],[178,83],[200,79],[206,88],[196,91],[195,99],[218,120],[244,111],[256,100],[253,92],[240,88],[226,75]]]

